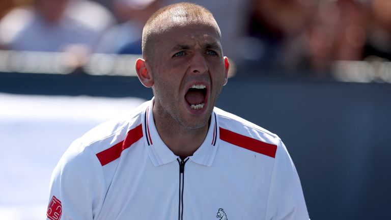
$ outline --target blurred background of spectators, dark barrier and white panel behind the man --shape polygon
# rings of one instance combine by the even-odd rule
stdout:
[[[177,2],[0,1],[0,219],[44,219],[70,143],[152,98],[142,28]],[[391,219],[391,1],[190,2],[232,63],[217,106],[282,138],[311,219]]]

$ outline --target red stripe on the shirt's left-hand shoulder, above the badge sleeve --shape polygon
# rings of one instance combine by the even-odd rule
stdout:
[[[104,166],[107,163],[120,158],[123,150],[130,147],[132,144],[134,144],[142,137],[143,137],[143,128],[142,125],[140,124],[137,127],[128,131],[125,140],[110,148],[107,148],[104,151],[97,153],[96,156],[98,157],[100,164]]]

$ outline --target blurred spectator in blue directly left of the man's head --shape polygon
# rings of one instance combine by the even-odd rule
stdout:
[[[159,0],[113,0],[120,24],[110,28],[99,41],[95,52],[141,54],[144,24],[160,8]]]

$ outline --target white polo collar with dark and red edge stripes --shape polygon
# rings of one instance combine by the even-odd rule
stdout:
[[[144,143],[147,147],[149,157],[152,160],[154,166],[157,167],[162,164],[172,162],[179,158],[179,156],[175,155],[170,150],[170,148],[164,144],[156,130],[156,126],[153,120],[153,103],[154,98],[150,101],[150,104],[143,113],[143,134]],[[208,133],[204,142],[192,156],[188,157],[193,162],[207,167],[212,165],[213,159],[216,155],[219,140],[217,118],[218,117],[216,113],[213,111]]]

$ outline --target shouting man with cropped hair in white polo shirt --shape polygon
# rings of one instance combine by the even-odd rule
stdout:
[[[214,107],[229,69],[220,38],[198,5],[151,16],[135,66],[154,98],[72,143],[48,219],[309,219],[278,136]]]

